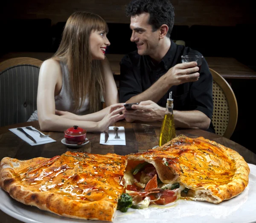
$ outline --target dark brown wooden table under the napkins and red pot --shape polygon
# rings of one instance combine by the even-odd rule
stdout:
[[[52,142],[44,145],[30,146],[22,139],[17,137],[15,134],[9,131],[9,128],[13,127],[24,127],[32,125],[33,127],[39,128],[38,121],[26,122],[21,124],[10,125],[7,127],[0,127],[0,160],[5,156],[9,156],[17,159],[32,159],[38,156],[43,157],[53,157],[61,155],[66,151],[86,151],[89,153],[116,153],[120,155],[125,155],[128,153],[136,153],[138,151],[144,151],[158,145],[158,136],[160,132],[160,122],[154,123],[127,123],[125,121],[119,121],[116,126],[125,127],[125,138],[126,145],[100,145],[99,138],[100,133],[87,133],[87,138],[93,138],[84,147],[79,149],[70,149],[63,145],[60,141],[64,138],[64,133],[50,132],[50,137],[55,139],[57,142]],[[46,132],[45,132],[46,133]],[[235,151],[238,151],[241,156],[248,163],[256,165],[256,154],[249,151],[247,148],[237,144],[236,142],[226,139],[222,136],[215,135],[203,130],[177,130],[177,134],[184,134],[191,138],[196,138],[198,136],[203,136],[206,139],[213,140],[215,142],[221,143]],[[16,220],[13,217],[0,211],[1,221],[3,223],[21,223],[21,221]]]

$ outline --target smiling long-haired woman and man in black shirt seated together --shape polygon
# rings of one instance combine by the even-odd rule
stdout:
[[[172,91],[176,127],[213,131],[212,75],[205,59],[181,63],[181,55],[199,52],[176,45],[170,34],[174,8],[169,0],[132,0],[131,41],[137,51],[120,63],[119,94],[105,57],[108,26],[99,15],[75,12],[67,20],[60,46],[41,65],[38,120],[41,130],[63,131],[78,125],[88,132],[104,131],[120,119],[161,121]],[[122,34],[120,47],[122,47]],[[200,76],[200,78],[199,78]],[[107,107],[100,110],[101,99]],[[138,102],[135,110],[123,103]],[[33,114],[30,121],[36,119]]]

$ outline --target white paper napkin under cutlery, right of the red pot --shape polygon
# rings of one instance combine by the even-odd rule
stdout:
[[[120,136],[119,139],[115,139],[116,131],[115,126],[108,127],[108,141],[105,143],[105,133],[100,134],[99,143],[103,145],[126,145],[125,142],[125,127],[118,127],[117,133]]]

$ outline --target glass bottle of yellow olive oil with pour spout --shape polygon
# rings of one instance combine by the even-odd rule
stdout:
[[[176,137],[174,118],[173,118],[173,99],[172,92],[169,93],[169,98],[166,103],[166,112],[164,115],[162,127],[159,135],[159,146],[169,142]]]

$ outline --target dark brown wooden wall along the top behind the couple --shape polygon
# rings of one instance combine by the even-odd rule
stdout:
[[[52,24],[66,21],[75,11],[90,11],[107,22],[129,23],[125,4],[129,0],[11,0],[2,3],[0,20],[49,18]],[[234,26],[256,23],[254,0],[172,0],[176,25]]]

